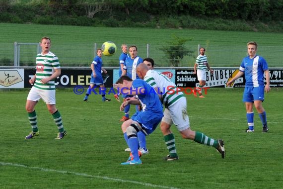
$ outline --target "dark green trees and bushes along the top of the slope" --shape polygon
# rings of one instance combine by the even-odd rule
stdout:
[[[218,30],[245,28],[244,31],[248,28],[247,22],[262,22],[261,25],[272,25],[272,31],[280,32],[283,30],[282,9],[282,0],[2,0],[0,21],[39,23],[37,20],[47,18],[50,19],[48,24],[59,24],[71,17],[71,21],[67,20],[65,25]],[[88,20],[81,22],[81,16]],[[198,23],[183,18],[197,19]],[[227,20],[230,23],[222,22],[218,26],[213,19]],[[244,26],[230,25],[237,20],[243,22]],[[273,24],[270,24],[271,21]],[[263,28],[251,30],[261,29]]]

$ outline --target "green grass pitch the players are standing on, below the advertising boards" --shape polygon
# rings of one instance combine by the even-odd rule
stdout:
[[[278,189],[283,186],[282,90],[273,89],[263,103],[270,131],[263,134],[255,112],[255,133],[247,127],[243,89],[209,89],[207,98],[187,95],[191,128],[225,142],[222,159],[213,147],[182,139],[175,126],[179,160],[166,162],[163,136],[158,127],[147,137],[149,154],[142,165],[121,166],[129,154],[119,119],[120,103],[113,95],[102,102],[100,95],[57,90],[68,135],[54,140],[57,127],[46,105],[36,106],[40,136],[31,131],[25,111],[28,90],[0,91],[0,183],[2,189]],[[131,114],[134,113],[134,107]]]

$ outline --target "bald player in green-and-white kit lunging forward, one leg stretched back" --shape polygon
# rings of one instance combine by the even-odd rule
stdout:
[[[165,106],[160,128],[164,136],[165,144],[169,155],[165,157],[167,161],[178,160],[175,137],[170,130],[174,123],[183,138],[193,140],[197,143],[213,146],[221,157],[225,156],[224,142],[222,139],[215,140],[204,133],[191,130],[190,120],[187,114],[187,98],[180,92],[176,85],[163,74],[153,69],[154,61],[151,58],[143,59],[143,64],[137,67],[137,74],[146,81],[159,95],[161,102]]]

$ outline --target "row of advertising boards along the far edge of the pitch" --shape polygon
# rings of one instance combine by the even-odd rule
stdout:
[[[29,79],[35,74],[35,69],[0,69],[0,88],[30,88]],[[156,71],[166,75],[177,87],[195,88],[199,84],[197,75],[190,69],[168,69]],[[215,69],[214,73],[206,71],[206,86],[226,88],[226,83],[239,72],[238,69]],[[283,87],[283,69],[270,70],[270,87]],[[74,86],[88,87],[91,77],[91,70],[84,69],[61,69],[61,76],[55,82],[58,88],[72,88]],[[102,74],[105,80],[105,87],[113,87],[113,83],[119,78],[117,69],[107,69],[107,74]],[[237,79],[232,87],[245,87],[245,78]]]

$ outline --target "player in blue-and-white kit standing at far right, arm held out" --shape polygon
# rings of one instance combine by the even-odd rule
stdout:
[[[270,76],[266,60],[258,56],[258,45],[254,41],[250,41],[248,46],[248,56],[242,60],[239,72],[234,78],[227,82],[227,86],[231,86],[235,80],[245,75],[246,84],[243,94],[243,102],[245,102],[247,110],[248,128],[246,132],[254,132],[254,112],[253,104],[259,113],[262,121],[262,132],[268,131],[267,118],[265,109],[262,106],[264,100],[264,92],[270,91]],[[266,77],[266,85],[264,85],[264,74]]]

